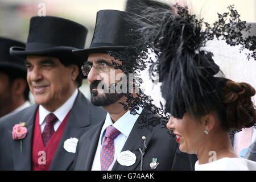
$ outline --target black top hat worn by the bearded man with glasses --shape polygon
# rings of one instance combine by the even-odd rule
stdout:
[[[98,11],[90,48],[73,52],[86,57],[89,53],[122,51],[133,45],[133,38],[130,36],[133,26],[127,21],[127,17],[131,15],[133,14],[118,10]]]

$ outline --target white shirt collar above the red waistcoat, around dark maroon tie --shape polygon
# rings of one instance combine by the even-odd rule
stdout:
[[[69,99],[62,106],[56,109],[54,112],[50,112],[44,109],[42,105],[39,106],[39,125],[41,128],[41,133],[43,133],[44,127],[46,126],[46,122],[44,122],[44,119],[50,113],[55,114],[56,117],[58,118],[58,121],[56,121],[55,124],[53,125],[54,131],[56,131],[59,128],[61,122],[63,122],[63,119],[66,117],[68,112],[73,107],[77,94],[78,94],[78,90],[76,89],[75,92],[72,94],[72,96],[69,97]]]

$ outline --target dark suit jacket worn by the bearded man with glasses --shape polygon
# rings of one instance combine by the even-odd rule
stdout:
[[[157,162],[159,165],[155,170],[193,170],[197,160],[196,156],[180,152],[179,145],[174,138],[170,137],[167,133],[167,129],[163,129],[163,125],[152,127],[151,130],[146,128],[142,130],[138,129],[138,127],[141,126],[140,123],[144,117],[150,119],[152,114],[150,111],[143,110],[122,148],[122,151],[129,150],[137,156],[135,164],[126,167],[121,166],[116,161],[112,171],[139,171],[141,169],[141,152],[139,151],[139,148],[144,152],[143,171],[152,170],[150,168],[152,158],[158,159]],[[79,144],[77,144],[75,170],[92,169],[93,159],[103,125],[104,122],[99,123],[82,135]],[[147,148],[144,147],[144,142],[142,140],[143,136],[147,139]]]

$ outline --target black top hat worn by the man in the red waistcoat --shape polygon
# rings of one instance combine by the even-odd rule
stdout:
[[[77,61],[73,49],[84,48],[87,29],[79,23],[53,16],[32,17],[26,47],[11,47],[10,53],[20,57],[28,55],[53,56]]]

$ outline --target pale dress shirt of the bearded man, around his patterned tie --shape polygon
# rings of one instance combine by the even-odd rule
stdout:
[[[143,110],[142,107],[140,107],[137,113],[141,114],[142,110]],[[117,136],[117,138],[114,139],[114,147],[115,147],[114,160],[108,169],[108,171],[111,171],[114,166],[115,160],[117,160],[118,154],[122,151],[122,148],[125,145],[125,142],[129,137],[131,130],[133,129],[133,126],[139,117],[139,114],[136,114],[136,115],[130,114],[130,111],[128,110],[115,123],[113,123],[109,113],[106,115],[105,123],[101,129],[101,135],[100,135],[101,137],[98,140],[98,146],[97,146],[97,150],[93,160],[92,171],[101,171],[101,144],[103,140],[102,135],[106,130],[106,128],[112,125],[115,127],[115,129],[120,131],[120,134]]]

